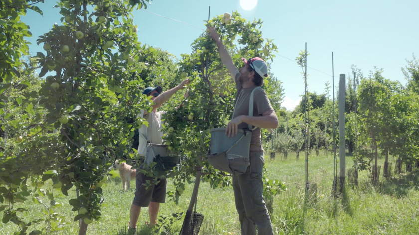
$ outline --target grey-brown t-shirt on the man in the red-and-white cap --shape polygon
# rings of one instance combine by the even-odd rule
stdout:
[[[243,84],[238,81],[240,77],[240,73],[237,73],[235,76],[235,83],[237,88],[236,93],[236,110],[234,113],[234,118],[240,115],[249,115],[249,101],[250,101],[250,94],[252,93],[253,89],[257,86],[252,86],[249,88],[243,88]],[[240,100],[237,100],[238,95],[240,92],[243,91],[240,95]],[[266,95],[266,92],[262,89],[257,89],[253,94],[253,116],[262,116],[262,114],[266,111],[273,110],[272,105],[270,104],[269,98]],[[238,125],[239,129],[249,130],[249,125],[247,123],[240,123]],[[250,151],[263,151],[262,147],[262,137],[261,137],[261,130],[260,128],[256,128],[252,132],[252,140],[250,142]]]

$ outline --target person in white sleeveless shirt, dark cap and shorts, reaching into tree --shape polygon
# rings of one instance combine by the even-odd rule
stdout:
[[[153,109],[151,113],[147,110],[142,110],[141,116],[145,118],[149,123],[149,126],[143,125],[139,129],[139,145],[138,145],[138,154],[141,156],[146,155],[147,142],[152,144],[162,144],[163,133],[160,131],[162,128],[161,116],[164,114],[164,111],[157,111],[157,109],[162,106],[166,101],[172,97],[177,91],[182,90],[185,85],[189,84],[189,80],[185,79],[178,86],[162,92],[162,87],[148,87],[143,91],[143,94],[152,96],[152,100],[155,104],[152,105]],[[157,214],[159,213],[160,203],[164,203],[166,199],[166,179],[161,179],[157,185],[148,187],[147,189],[143,185],[146,180],[151,180],[151,177],[145,176],[143,173],[137,171],[135,178],[136,190],[134,193],[134,200],[131,204],[130,209],[130,221],[129,221],[129,232],[135,233],[135,227],[140,215],[141,207],[149,207],[149,219],[150,226],[154,225],[157,220]]]

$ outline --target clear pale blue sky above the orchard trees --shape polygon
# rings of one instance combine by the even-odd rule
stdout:
[[[252,10],[244,10],[240,1],[254,3],[256,0],[154,0],[147,11],[173,18],[205,29],[203,20],[224,12],[238,11],[248,20],[261,18],[263,37],[274,39],[278,53],[294,60],[307,42],[307,65],[326,74],[332,74],[332,51],[334,52],[335,87],[339,74],[348,74],[354,64],[368,75],[374,66],[384,68],[383,76],[406,80],[401,68],[412,54],[419,56],[418,21],[419,0],[258,0]],[[55,1],[38,4],[44,12],[42,17],[28,11],[22,20],[30,25],[33,45],[30,51],[43,51],[36,45],[38,36],[46,33],[52,25],[60,24],[59,9],[52,8]],[[134,24],[138,25],[138,37],[142,43],[161,47],[179,57],[191,52],[190,44],[202,30],[162,18],[145,11],[134,11]],[[300,68],[281,56],[272,63],[272,72],[283,82],[284,107],[292,109],[304,92]],[[323,93],[324,83],[332,84],[332,77],[308,68],[309,91]]]

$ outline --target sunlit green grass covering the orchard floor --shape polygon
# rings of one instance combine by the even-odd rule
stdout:
[[[274,199],[272,222],[275,234],[418,234],[419,224],[419,169],[408,174],[401,174],[385,180],[380,176],[380,183],[372,184],[366,172],[360,172],[359,186],[346,187],[346,193],[340,198],[331,197],[333,181],[333,155],[313,154],[309,161],[309,178],[311,183],[317,183],[317,200],[306,203],[304,197],[304,155],[296,160],[295,153],[289,153],[288,159],[281,159],[277,153],[276,159],[270,159],[266,153],[265,166],[268,169],[267,178],[278,179],[287,184],[288,190]],[[379,159],[379,165],[383,165]],[[394,159],[391,160],[394,167]],[[347,169],[352,165],[352,157],[346,157]],[[382,173],[381,173],[382,174]],[[134,182],[131,182],[134,185]],[[166,202],[161,206],[160,215],[169,216],[174,212],[185,212],[193,185],[189,185],[181,197],[179,205]],[[102,220],[89,225],[89,235],[125,235],[129,208],[133,199],[134,189],[122,192],[119,179],[110,180],[103,187],[105,204],[102,206]],[[169,183],[168,189],[173,190]],[[59,194],[58,191],[55,191]],[[71,191],[72,196],[75,195]],[[47,201],[47,200],[45,200]],[[76,215],[71,212],[68,198],[58,196],[57,202],[64,206],[57,209],[65,215],[64,230],[56,234],[73,235],[78,232],[78,224],[73,222]],[[40,205],[34,205],[28,200],[16,205],[29,209],[24,213],[28,219],[43,216]],[[197,210],[205,215],[201,235],[240,235],[238,215],[235,210],[232,187],[211,189],[209,183],[202,182],[198,195]],[[147,209],[140,214],[138,225],[148,221]],[[178,234],[182,220],[176,222],[172,229]],[[42,228],[44,224],[35,227]],[[33,228],[32,228],[33,229]],[[12,223],[0,224],[0,234],[11,235],[17,231]],[[142,226],[138,234],[147,234]]]

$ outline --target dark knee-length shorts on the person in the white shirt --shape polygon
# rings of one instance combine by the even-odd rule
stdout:
[[[167,180],[160,179],[157,185],[152,185],[146,189],[144,183],[146,183],[146,180],[153,180],[153,177],[148,177],[139,171],[137,172],[132,204],[138,207],[148,207],[150,202],[164,203],[166,200]]]

